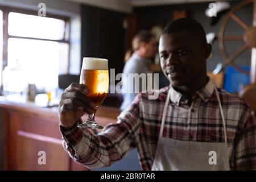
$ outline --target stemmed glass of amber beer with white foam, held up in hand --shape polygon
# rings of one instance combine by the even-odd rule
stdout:
[[[94,113],[89,115],[88,120],[78,125],[78,127],[103,129],[102,126],[95,122],[94,116],[96,110],[100,107],[108,92],[108,60],[97,57],[84,57],[82,60],[80,84],[84,84],[90,89],[90,93],[87,96],[92,102],[94,102],[94,104],[96,104],[96,108],[94,108]]]

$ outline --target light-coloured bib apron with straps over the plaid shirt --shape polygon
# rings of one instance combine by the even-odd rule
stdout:
[[[169,90],[166,103],[164,104],[159,139],[151,170],[230,170],[229,155],[232,148],[228,148],[226,125],[220,97],[216,87],[214,87],[214,90],[220,107],[225,143],[192,142],[162,137],[171,95]]]

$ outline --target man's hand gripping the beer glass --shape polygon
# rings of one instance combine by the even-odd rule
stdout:
[[[59,104],[60,125],[73,126],[85,113],[92,114],[96,105],[86,96],[90,92],[85,85],[72,83],[61,95]]]

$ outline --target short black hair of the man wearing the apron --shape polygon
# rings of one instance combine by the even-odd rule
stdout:
[[[171,34],[179,31],[191,31],[201,36],[202,38],[201,40],[203,40],[204,44],[207,43],[203,26],[201,26],[201,24],[197,22],[197,20],[195,19],[189,19],[189,18],[177,19],[174,22],[167,24],[167,26],[163,30],[163,34]]]

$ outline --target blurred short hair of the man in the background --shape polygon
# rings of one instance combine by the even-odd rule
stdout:
[[[150,31],[142,30],[140,31],[135,37],[133,38],[133,51],[137,51],[139,49],[139,45],[142,42],[148,43],[150,42],[150,39],[154,37],[154,34],[151,34]]]

